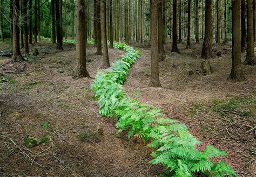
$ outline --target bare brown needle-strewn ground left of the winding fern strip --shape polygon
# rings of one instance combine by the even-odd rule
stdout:
[[[2,44],[1,44],[2,47]],[[41,60],[26,64],[8,63],[0,58],[0,73],[15,84],[0,83],[0,174],[1,175],[81,175],[154,176],[163,168],[148,164],[150,149],[137,139],[116,134],[114,119],[98,115],[98,104],[90,89],[92,79],[71,78],[75,46],[65,44],[56,51],[50,43],[40,43]],[[8,46],[5,46],[8,49]],[[96,48],[86,49],[91,76],[102,63]],[[110,49],[111,62],[124,52]],[[22,72],[18,68],[23,67]],[[43,128],[42,123],[48,127]],[[99,143],[79,140],[79,133],[103,129]],[[46,145],[26,148],[26,136],[48,137]],[[11,141],[13,140],[14,143]],[[28,155],[30,159],[26,156]],[[37,165],[36,163],[40,164]],[[31,165],[32,164],[32,165]]]

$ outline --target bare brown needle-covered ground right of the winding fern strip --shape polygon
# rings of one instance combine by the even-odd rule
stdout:
[[[193,104],[208,104],[213,99],[227,99],[235,97],[250,97],[254,100],[256,95],[256,69],[255,66],[242,66],[247,80],[234,83],[227,80],[231,70],[231,45],[219,45],[214,48],[221,51],[222,56],[211,59],[214,73],[210,76],[199,74],[201,45],[193,44],[192,49],[185,50],[186,44],[179,44],[181,55],[170,53],[171,44],[166,45],[166,59],[159,64],[161,88],[149,87],[151,75],[150,48],[139,48],[142,51],[140,59],[130,69],[124,88],[128,95],[144,103],[151,103],[162,110],[167,116],[185,123],[192,134],[206,144],[221,148],[230,155],[224,159],[237,170],[240,176],[256,175],[254,123],[246,122],[245,126],[234,126],[214,117],[212,112],[203,115],[193,115]],[[245,54],[243,54],[245,58]],[[238,120],[241,117],[238,117]],[[253,117],[251,117],[253,119]],[[222,122],[222,123],[221,123]],[[235,122],[234,122],[235,125]],[[229,136],[235,129],[241,129],[238,135]],[[249,133],[250,132],[250,133]],[[243,141],[238,141],[236,136],[244,136]],[[248,138],[248,139],[247,139]],[[253,160],[254,159],[254,160]],[[249,162],[249,163],[248,163]],[[247,164],[248,163],[248,164]],[[247,164],[247,165],[246,165]]]

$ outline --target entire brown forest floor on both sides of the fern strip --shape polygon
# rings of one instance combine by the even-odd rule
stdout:
[[[201,45],[173,54],[166,45],[160,62],[161,88],[150,83],[150,48],[140,47],[142,56],[130,69],[124,88],[127,94],[163,109],[167,116],[185,123],[203,141],[229,153],[224,158],[239,176],[255,175],[256,69],[242,66],[247,80],[227,80],[231,70],[231,44],[214,46],[222,56],[211,59],[214,73],[201,76]],[[151,150],[141,140],[116,134],[114,119],[98,115],[98,104],[90,89],[92,79],[72,79],[75,45],[64,44],[56,51],[50,43],[38,43],[39,60],[11,63],[0,58],[0,174],[156,176],[164,173],[150,165]],[[10,43],[0,51],[10,50]],[[87,45],[87,69],[92,77],[102,56]],[[124,52],[110,49],[111,63]],[[242,54],[245,58],[245,54]],[[90,59],[90,60],[89,60]],[[79,134],[103,129],[100,141],[84,142]],[[44,144],[26,147],[26,137]]]

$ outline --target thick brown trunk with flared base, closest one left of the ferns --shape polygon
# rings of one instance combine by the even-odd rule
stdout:
[[[90,77],[86,70],[86,22],[84,0],[76,0],[76,61],[73,77]]]

